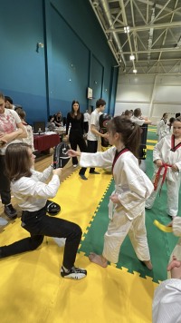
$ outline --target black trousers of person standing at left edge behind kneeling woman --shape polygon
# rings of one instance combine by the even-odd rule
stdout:
[[[5,175],[5,156],[0,155],[0,195],[3,204],[11,203],[10,181]]]

